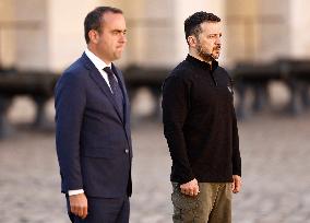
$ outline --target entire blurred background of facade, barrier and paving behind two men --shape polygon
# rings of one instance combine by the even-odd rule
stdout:
[[[310,222],[310,15],[307,0],[0,0],[0,213],[3,223],[68,223],[53,134],[53,86],[86,45],[97,5],[123,10],[116,63],[132,104],[131,223],[171,222],[160,85],[187,56],[183,21],[223,20],[219,62],[234,79],[243,190],[236,223]]]

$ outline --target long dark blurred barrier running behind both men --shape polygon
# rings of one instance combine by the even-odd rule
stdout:
[[[153,116],[160,116],[159,97],[162,84],[171,68],[130,66],[123,70],[129,95],[132,98],[140,87],[151,90],[157,104]],[[231,71],[235,92],[238,94],[236,111],[239,118],[249,116],[251,111],[262,110],[270,105],[269,84],[272,81],[284,82],[290,92],[288,111],[298,115],[310,107],[310,60],[278,59],[270,63],[259,64],[240,62]],[[59,73],[38,71],[0,70],[0,138],[8,131],[7,111],[12,99],[17,95],[28,95],[36,104],[34,127],[46,122],[44,106],[53,96],[55,84]],[[246,106],[249,93],[254,97],[251,110]]]

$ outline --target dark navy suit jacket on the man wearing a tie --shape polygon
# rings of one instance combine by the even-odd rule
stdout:
[[[131,196],[130,105],[121,71],[112,64],[123,96],[123,116],[106,81],[83,54],[56,86],[56,146],[61,190],[86,196]]]

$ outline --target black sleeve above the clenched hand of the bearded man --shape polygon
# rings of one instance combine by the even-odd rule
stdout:
[[[178,77],[169,77],[163,85],[163,122],[172,159],[174,172],[180,184],[194,178],[183,134],[183,125],[188,114],[188,86]]]

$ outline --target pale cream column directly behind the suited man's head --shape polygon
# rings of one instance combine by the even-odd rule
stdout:
[[[48,1],[48,68],[59,70],[81,57],[86,43],[84,19],[100,1]]]

